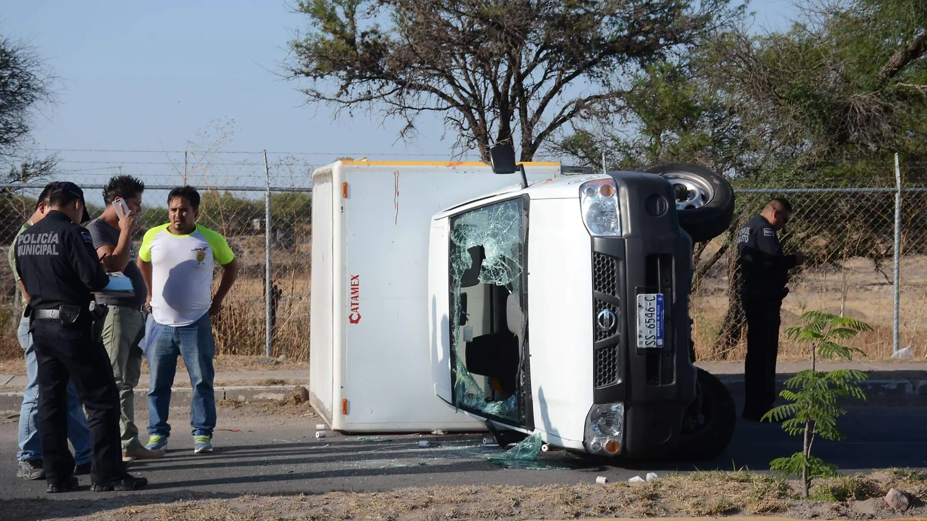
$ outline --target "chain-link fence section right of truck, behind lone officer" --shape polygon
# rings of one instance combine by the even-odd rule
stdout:
[[[922,339],[927,325],[927,215],[922,211],[927,191],[896,187],[737,190],[729,232],[695,248],[691,305],[697,358],[743,360],[746,336],[736,291],[735,231],[772,197],[786,197],[794,207],[792,220],[780,233],[783,249],[810,256],[792,273],[783,301],[780,359],[809,356],[806,348],[785,337],[785,329],[811,310],[870,324],[870,333],[851,341],[870,360],[885,360],[895,349],[906,348],[916,358],[927,358]]]

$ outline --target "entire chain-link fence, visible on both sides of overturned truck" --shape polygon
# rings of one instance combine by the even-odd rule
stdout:
[[[270,170],[268,170],[270,172]],[[273,356],[308,361],[311,288],[310,168],[298,175],[189,179],[175,175],[146,182],[144,213],[134,235],[135,248],[146,230],[167,222],[167,195],[184,180],[197,185],[202,196],[199,222],[224,235],[242,263],[242,271],[221,317],[215,321],[217,350],[222,354],[263,355],[268,324],[273,331]],[[80,181],[80,180],[75,180]],[[105,178],[89,178],[83,187],[92,215],[99,215]],[[198,183],[197,183],[198,181]],[[272,184],[268,190],[268,184]],[[251,185],[244,185],[242,183]],[[0,185],[0,253],[32,213],[43,184]],[[270,194],[270,230],[266,205]],[[900,194],[900,270],[894,284],[895,197]],[[871,333],[854,345],[870,359],[893,354],[894,303],[898,297],[899,348],[927,358],[927,189],[895,187],[740,189],[735,223],[729,233],[696,245],[692,293],[693,338],[699,360],[742,360],[745,324],[736,291],[734,231],[743,226],[771,197],[788,197],[792,221],[781,234],[783,248],[810,254],[793,274],[791,293],[782,310],[782,327],[798,324],[804,311],[843,313],[872,325]],[[268,231],[270,234],[268,234]],[[271,299],[266,306],[268,253]],[[218,284],[218,277],[216,278]],[[17,288],[6,261],[0,263],[0,359],[21,356],[16,337],[19,324]],[[270,313],[267,310],[270,310]],[[270,320],[268,320],[270,319]],[[798,346],[781,338],[781,358],[805,357]]]

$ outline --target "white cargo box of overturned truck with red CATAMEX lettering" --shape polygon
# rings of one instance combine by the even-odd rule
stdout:
[[[528,181],[559,163],[525,163]],[[337,161],[312,173],[311,403],[342,432],[482,430],[435,395],[431,217],[520,185],[481,162]]]

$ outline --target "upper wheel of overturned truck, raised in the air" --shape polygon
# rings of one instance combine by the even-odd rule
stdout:
[[[673,184],[679,227],[693,243],[723,234],[734,218],[734,191],[724,177],[692,163],[656,163],[642,170]]]

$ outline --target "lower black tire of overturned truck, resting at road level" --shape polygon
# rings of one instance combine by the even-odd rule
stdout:
[[[682,421],[678,456],[685,461],[711,461],[728,448],[737,411],[730,391],[717,376],[704,369],[696,371],[698,392]]]

